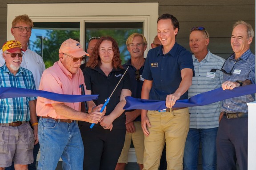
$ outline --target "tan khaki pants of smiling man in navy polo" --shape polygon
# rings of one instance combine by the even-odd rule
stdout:
[[[172,112],[148,111],[151,128],[144,138],[144,169],[158,170],[166,142],[167,170],[182,170],[183,155],[189,130],[188,108]]]

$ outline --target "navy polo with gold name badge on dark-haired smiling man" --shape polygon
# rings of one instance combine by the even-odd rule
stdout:
[[[149,93],[151,100],[166,100],[167,95],[174,93],[182,80],[181,70],[194,66],[192,54],[183,46],[175,42],[172,49],[163,54],[163,46],[158,46],[148,51],[142,77],[153,81]],[[188,99],[188,92],[184,93],[180,100]]]

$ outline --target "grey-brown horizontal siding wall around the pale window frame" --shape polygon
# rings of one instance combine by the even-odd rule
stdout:
[[[100,3],[138,2],[138,0],[2,0],[0,4],[0,46],[7,37],[7,3]],[[158,2],[159,15],[171,13],[180,21],[177,42],[189,49],[188,36],[195,26],[205,27],[210,34],[209,50],[227,58],[232,53],[230,35],[232,24],[244,20],[255,28],[255,0],[139,0]],[[21,9],[22,10],[22,9]],[[86,9],[85,9],[86,10]],[[132,9],[131,9],[132,10]],[[26,12],[24,12],[26,13]],[[9,30],[8,30],[9,31]],[[151,42],[150,42],[151,43]],[[255,51],[255,39],[251,50]]]

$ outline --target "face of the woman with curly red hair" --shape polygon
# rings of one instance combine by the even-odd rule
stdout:
[[[100,43],[99,55],[101,63],[112,63],[114,52],[111,41],[105,40]]]

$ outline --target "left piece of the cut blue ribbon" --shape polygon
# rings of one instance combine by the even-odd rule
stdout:
[[[44,97],[50,100],[76,103],[82,101],[90,101],[98,98],[99,95],[68,95],[58,94],[42,90],[23,89],[15,87],[1,87],[0,99],[15,98],[15,97]]]

